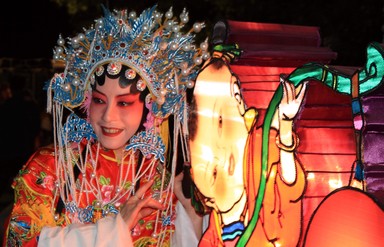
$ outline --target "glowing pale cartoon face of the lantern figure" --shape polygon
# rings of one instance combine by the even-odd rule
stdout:
[[[236,77],[226,66],[215,73],[212,69],[208,66],[199,74],[194,89],[192,176],[207,206],[228,213],[246,201],[243,155],[248,132]]]

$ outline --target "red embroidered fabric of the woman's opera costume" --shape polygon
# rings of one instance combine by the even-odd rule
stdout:
[[[97,153],[97,145],[92,146],[92,153]],[[116,186],[120,176],[120,167],[122,167],[122,174],[126,174],[125,171],[132,168],[128,165],[128,161],[134,155],[133,159],[137,159],[136,154],[132,154],[131,151],[127,152],[124,164],[120,164],[117,161],[115,153],[113,151],[99,150],[99,158],[96,168],[96,177],[89,179],[90,183],[95,184],[96,180],[99,181],[100,192],[104,203],[111,201],[111,198],[116,193]],[[148,162],[147,162],[148,161]],[[149,189],[144,197],[152,197],[154,194],[158,195],[163,201],[169,200],[166,198],[166,192],[160,194],[161,187],[161,168],[160,164],[156,165],[152,169],[146,169],[151,160],[146,160],[142,167],[146,170],[146,173],[140,179],[140,184],[145,184],[149,180],[154,179],[154,185]],[[43,226],[65,226],[69,220],[68,212],[64,212],[60,215],[58,220],[53,218],[55,206],[52,206],[54,202],[56,172],[55,172],[55,157],[54,150],[52,148],[42,148],[38,150],[27,162],[27,164],[20,171],[19,176],[15,179],[13,184],[15,189],[15,205],[11,213],[11,223],[6,233],[6,246],[37,246],[37,240],[40,235],[41,228]],[[89,164],[86,168],[85,176],[91,177],[93,173],[93,167]],[[83,176],[79,176],[79,183],[83,179]],[[129,172],[126,184],[121,188],[122,191],[128,190],[132,181],[132,172]],[[95,185],[96,186],[96,185]],[[167,185],[164,185],[167,186]],[[88,203],[94,203],[96,197],[92,193],[83,193],[80,200],[79,207],[85,208]],[[114,206],[119,209],[121,205],[128,199],[129,193],[126,193]],[[87,200],[87,196],[89,200]],[[173,207],[176,203],[176,197],[172,196]],[[56,202],[57,203],[57,200]],[[169,225],[164,230],[165,243],[170,241],[170,233],[174,231],[174,217],[175,209],[171,210],[172,216],[170,216]],[[93,221],[97,221],[101,217],[101,212],[94,211]],[[132,229],[132,239],[134,243],[145,243],[146,246],[156,246],[156,240],[153,239],[153,229],[156,228],[157,211],[151,215],[143,218]],[[162,220],[157,222],[157,229],[162,227]],[[127,234],[129,234],[127,232]],[[161,236],[160,236],[161,237]]]

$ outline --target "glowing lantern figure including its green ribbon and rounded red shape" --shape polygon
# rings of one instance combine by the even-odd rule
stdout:
[[[302,231],[307,181],[305,164],[295,155],[299,139],[292,130],[307,89],[304,81],[317,81],[351,96],[354,127],[365,144],[357,148],[365,161],[372,158],[361,130],[367,130],[370,111],[377,108],[362,108],[360,100],[382,88],[384,50],[373,43],[367,53],[365,68],[351,75],[316,63],[298,67],[275,91],[262,125],[256,109],[245,106],[226,56],[214,53],[206,62],[197,77],[189,125],[197,195],[211,210],[199,246],[360,247],[383,242],[384,211],[377,198],[351,186],[327,195]],[[360,128],[356,116],[365,117]]]

